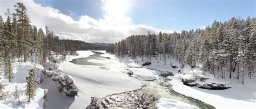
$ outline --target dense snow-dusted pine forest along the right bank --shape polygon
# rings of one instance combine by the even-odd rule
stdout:
[[[203,70],[214,76],[214,69],[221,70],[222,78],[226,78],[224,68],[229,66],[229,78],[232,72],[237,72],[237,78],[240,74],[244,78],[245,72],[248,72],[251,78],[256,62],[255,49],[256,18],[243,20],[233,17],[225,23],[214,21],[204,30],[131,35],[109,45],[106,50],[118,56],[155,57],[164,60],[164,64],[166,56],[173,56],[180,62],[181,69],[185,64],[192,68],[202,64]],[[245,71],[246,68],[248,71]]]

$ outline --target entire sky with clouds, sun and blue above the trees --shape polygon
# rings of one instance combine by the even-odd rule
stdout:
[[[133,34],[172,33],[205,28],[214,20],[256,16],[255,0],[0,0],[0,12],[22,2],[31,24],[60,39],[119,41]]]

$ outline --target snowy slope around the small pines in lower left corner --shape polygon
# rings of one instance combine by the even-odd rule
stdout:
[[[8,96],[6,99],[0,101],[0,107],[1,108],[35,108],[35,107],[42,107],[43,104],[43,92],[44,89],[40,88],[40,86],[37,86],[36,96],[35,99],[31,100],[30,103],[27,103],[27,99],[25,96],[25,89],[26,89],[26,76],[29,74],[30,69],[36,69],[36,73],[40,72],[42,70],[42,66],[39,64],[35,64],[32,62],[27,61],[26,63],[19,63],[15,62],[13,64],[13,72],[14,72],[14,78],[12,78],[11,82],[8,83],[5,86],[4,91],[8,92]],[[4,75],[1,74],[0,82],[4,83],[8,81],[8,78],[4,77]],[[38,74],[37,74],[37,78]],[[40,79],[39,79],[40,80]],[[38,80],[38,81],[39,81]],[[19,99],[21,100],[22,104],[18,105],[17,100],[13,99],[14,95],[14,89],[17,85],[18,91],[19,91]]]

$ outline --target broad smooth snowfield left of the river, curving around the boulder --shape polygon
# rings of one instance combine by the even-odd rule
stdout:
[[[63,95],[55,95],[56,91],[50,90],[48,91],[48,95],[51,95],[48,98],[49,108],[84,108],[90,104],[91,97],[103,98],[114,93],[137,90],[144,85],[138,79],[129,77],[122,72],[113,72],[69,62],[72,59],[87,57],[93,54],[91,51],[78,51],[78,53],[78,56],[68,57],[67,61],[60,63],[59,68],[55,70],[56,72],[63,72],[72,76],[79,89],[78,96],[59,100],[63,99]],[[57,90],[53,86],[50,86],[50,88]]]

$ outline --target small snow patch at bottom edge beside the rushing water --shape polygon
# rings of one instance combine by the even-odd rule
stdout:
[[[178,108],[186,108],[186,109],[197,109],[198,107],[193,106],[191,104],[184,103],[179,100],[174,99],[166,99],[166,98],[160,98],[159,103],[157,103],[157,108],[164,109],[164,108],[170,108],[170,109],[178,109]]]

